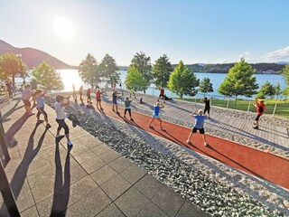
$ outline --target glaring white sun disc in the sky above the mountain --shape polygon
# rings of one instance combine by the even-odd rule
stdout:
[[[54,18],[54,30],[55,33],[60,35],[63,39],[70,39],[75,33],[74,27],[70,21],[62,17]]]

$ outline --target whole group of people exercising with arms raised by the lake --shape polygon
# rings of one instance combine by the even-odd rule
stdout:
[[[73,88],[73,98],[76,100],[77,95],[76,95],[74,84],[73,84],[72,88]],[[161,89],[160,91],[161,92],[160,92],[159,99],[161,97],[164,98],[163,89]],[[102,93],[103,92],[99,89],[99,87],[97,87],[95,94],[96,94],[96,99],[97,99],[97,108],[99,110],[103,110],[103,108],[101,107],[101,94]],[[131,90],[130,91],[130,98],[126,97],[126,100],[124,101],[125,102],[124,118],[126,118],[126,112],[128,112],[131,121],[134,120],[132,118],[132,112],[131,112],[131,103],[133,101],[133,99],[131,98],[132,93],[135,96],[135,92]],[[92,105],[91,90],[90,89],[87,90],[86,94],[87,94],[88,104]],[[119,94],[120,93],[117,92],[117,90],[114,88],[112,91],[112,110],[114,112],[116,112],[118,115],[120,114],[118,112],[118,108],[117,108],[117,98],[118,98]],[[34,115],[32,110],[33,110],[33,108],[36,108],[37,109],[37,114],[36,114],[37,123],[42,123],[45,121],[46,122],[46,128],[50,128],[51,125],[48,123],[48,116],[44,110],[44,95],[45,95],[45,91],[42,91],[40,89],[31,90],[31,85],[25,84],[23,87],[22,100],[23,100],[24,108],[26,109],[26,113],[29,116]],[[82,96],[83,96],[83,86],[81,86],[79,88],[79,99],[80,99],[81,103],[83,103]],[[31,99],[33,101],[33,106],[31,104]],[[152,123],[154,122],[154,120],[158,120],[159,124],[160,124],[160,129],[165,130],[163,128],[162,119],[160,118],[160,110],[163,109],[164,106],[159,101],[159,99],[157,99],[156,103],[154,104],[153,117],[150,120],[148,127],[154,128],[152,126]],[[164,100],[165,99],[163,99],[163,102],[164,102]],[[210,99],[204,98],[204,99],[200,99],[200,101],[205,103],[205,109],[204,109],[204,111],[202,109],[196,109],[196,110],[191,112],[191,117],[195,118],[195,123],[194,123],[194,127],[192,127],[192,129],[191,129],[191,133],[190,133],[188,139],[186,140],[186,142],[188,144],[190,144],[191,143],[191,136],[199,131],[202,138],[203,138],[204,146],[208,146],[208,143],[207,143],[206,137],[205,137],[204,122],[205,122],[206,118],[210,118]],[[65,137],[67,138],[67,145],[72,146],[72,142],[70,141],[70,129],[69,129],[68,125],[65,123],[65,118],[67,117],[67,114],[65,113],[64,108],[68,105],[70,105],[70,97],[64,97],[62,95],[56,96],[56,102],[54,104],[54,109],[56,112],[56,122],[58,123],[56,137],[57,138],[64,137],[64,135],[60,134],[61,128],[63,128]],[[256,100],[254,102],[254,106],[256,107],[256,113],[257,113],[256,119],[255,119],[256,122],[254,123],[256,126],[254,128],[257,129],[259,127],[259,118],[264,114],[266,107],[264,104],[264,100],[260,100],[260,101]],[[208,112],[208,116],[206,116],[206,112]],[[43,115],[44,120],[40,119],[41,115]]]

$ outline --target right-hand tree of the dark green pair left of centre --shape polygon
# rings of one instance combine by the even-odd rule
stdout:
[[[98,68],[101,77],[105,78],[111,87],[118,82],[119,73],[117,73],[117,63],[113,57],[106,54]]]

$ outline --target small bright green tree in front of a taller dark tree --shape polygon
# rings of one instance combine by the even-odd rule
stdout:
[[[126,86],[135,90],[146,89],[149,83],[144,76],[136,69],[135,65],[131,65],[126,71]]]

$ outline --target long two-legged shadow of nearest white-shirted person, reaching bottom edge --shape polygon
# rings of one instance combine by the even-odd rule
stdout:
[[[55,145],[55,183],[51,217],[65,216],[70,201],[70,149],[66,155],[63,182],[59,139],[55,140]]]

